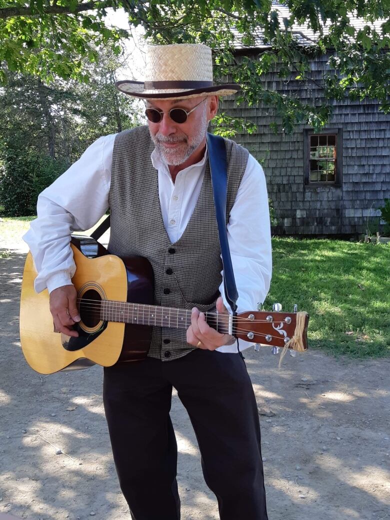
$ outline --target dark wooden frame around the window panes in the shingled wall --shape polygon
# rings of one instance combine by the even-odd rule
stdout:
[[[323,182],[310,182],[310,136],[312,135],[335,135],[336,136],[336,172],[335,180]],[[343,129],[326,128],[323,132],[315,132],[313,128],[304,128],[303,131],[303,178],[306,188],[335,187],[342,185],[343,175]]]

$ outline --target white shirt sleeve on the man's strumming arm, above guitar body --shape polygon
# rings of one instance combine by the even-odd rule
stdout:
[[[94,226],[108,210],[114,139],[97,139],[38,197],[37,218],[23,236],[38,272],[36,292],[72,283],[76,267],[70,236]]]

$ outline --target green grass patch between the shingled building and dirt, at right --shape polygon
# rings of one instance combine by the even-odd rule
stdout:
[[[307,310],[310,347],[368,358],[390,354],[390,244],[272,240],[265,307]]]

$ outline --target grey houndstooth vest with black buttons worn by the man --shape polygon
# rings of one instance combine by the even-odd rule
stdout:
[[[226,140],[228,163],[227,218],[248,162],[248,151]],[[158,172],[147,126],[115,137],[109,193],[110,253],[146,257],[154,271],[155,305],[215,311],[222,282],[222,261],[207,161],[202,188],[183,235],[171,243],[166,233],[158,187]],[[186,342],[185,329],[153,327],[149,356],[170,361],[195,347]]]

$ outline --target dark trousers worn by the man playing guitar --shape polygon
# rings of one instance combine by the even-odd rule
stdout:
[[[239,354],[194,350],[105,368],[103,399],[133,520],[179,520],[172,387],[196,433],[221,520],[267,520],[258,411]]]

